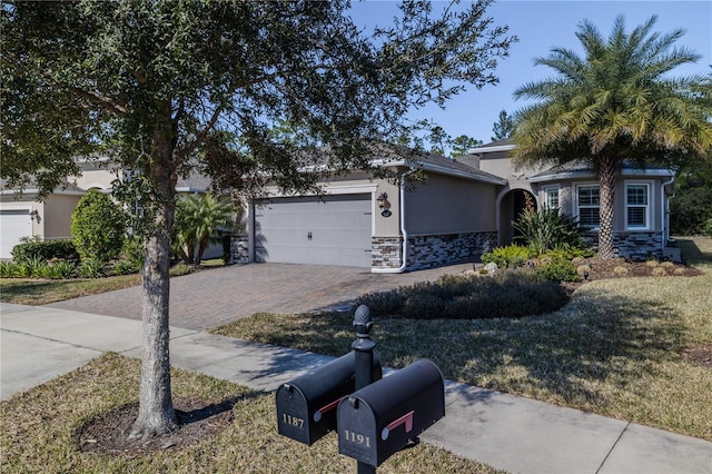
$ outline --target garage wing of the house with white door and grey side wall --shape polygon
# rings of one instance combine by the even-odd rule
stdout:
[[[363,172],[324,184],[323,197],[273,189],[247,213],[248,260],[370,267],[395,273],[473,261],[496,243],[495,201],[506,180],[467,164],[382,147],[372,162],[397,176],[422,168],[406,189]]]

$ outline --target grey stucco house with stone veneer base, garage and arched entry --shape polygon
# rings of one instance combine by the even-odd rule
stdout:
[[[575,216],[592,245],[597,240],[599,181],[590,167],[516,170],[514,145],[498,140],[448,159],[382,148],[373,164],[399,176],[422,168],[415,189],[354,172],[324,184],[324,196],[289,197],[271,189],[247,213],[240,261],[347,265],[396,273],[474,261],[493,246],[511,244],[512,223],[528,196],[536,207]],[[619,170],[614,247],[629,258],[680,259],[671,247],[670,169],[630,165]]]

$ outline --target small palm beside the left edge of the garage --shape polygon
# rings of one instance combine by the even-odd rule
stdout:
[[[231,227],[233,205],[210,192],[190,195],[176,205],[174,251],[188,264],[200,265],[219,227]]]

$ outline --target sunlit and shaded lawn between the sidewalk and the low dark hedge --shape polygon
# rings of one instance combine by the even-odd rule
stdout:
[[[385,366],[427,357],[451,379],[712,441],[712,369],[683,355],[712,345],[712,240],[681,244],[705,275],[592,282],[537,317],[377,319],[372,335]],[[354,340],[338,313],[261,313],[214,332],[335,356]]]

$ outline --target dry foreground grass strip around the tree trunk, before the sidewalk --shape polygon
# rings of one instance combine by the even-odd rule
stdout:
[[[177,397],[208,404],[230,401],[233,421],[222,432],[182,450],[135,458],[82,453],[78,432],[90,419],[136,403],[139,362],[106,354],[85,367],[0,403],[3,473],[344,473],[356,462],[338,454],[336,434],[312,446],[279,436],[273,394],[184,371],[172,372]],[[495,473],[421,443],[387,460],[379,473]]]

